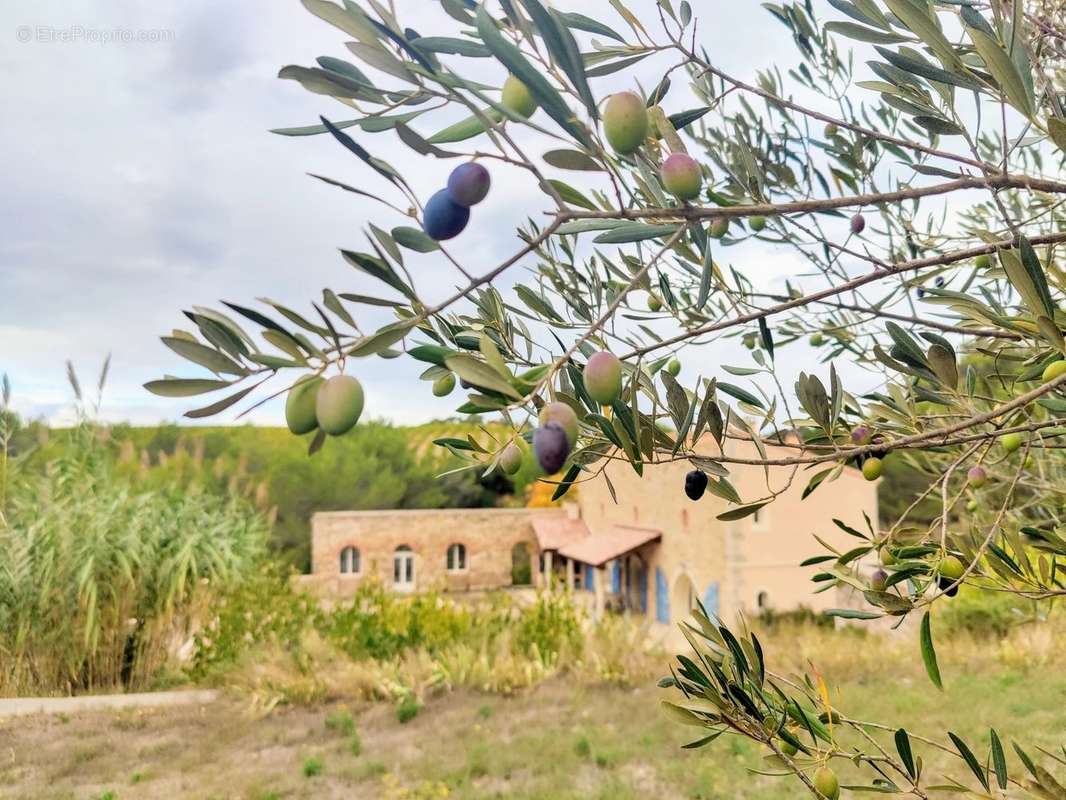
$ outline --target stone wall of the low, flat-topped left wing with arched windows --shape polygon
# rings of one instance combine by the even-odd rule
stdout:
[[[321,590],[343,596],[368,576],[393,587],[393,557],[406,545],[415,559],[411,590],[437,588],[477,591],[512,585],[512,551],[528,548],[536,579],[537,548],[534,514],[562,514],[544,509],[432,509],[395,511],[329,511],[311,517],[311,573]],[[466,548],[465,569],[448,570],[448,548]],[[359,551],[359,570],[342,575],[344,547]]]

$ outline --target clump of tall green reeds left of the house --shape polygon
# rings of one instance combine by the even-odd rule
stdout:
[[[264,554],[266,523],[247,503],[139,486],[116,475],[100,431],[61,432],[43,468],[3,476],[2,693],[150,685]]]

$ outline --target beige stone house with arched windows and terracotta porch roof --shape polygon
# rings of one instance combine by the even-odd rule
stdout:
[[[754,446],[730,443],[730,454],[755,457]],[[711,455],[716,445],[701,443]],[[771,458],[794,454],[768,447]],[[822,468],[730,465],[730,481],[747,502],[776,499],[742,519],[716,517],[731,506],[708,493],[693,502],[683,492],[688,461],[659,464],[637,476],[613,462],[602,477],[580,484],[561,509],[446,509],[323,512],[311,522],[311,576],[334,596],[376,576],[395,591],[430,587],[479,591],[536,586],[571,587],[601,612],[625,610],[660,623],[688,617],[696,598],[723,619],[763,609],[845,605],[836,590],[815,593],[818,567],[800,563],[820,555],[813,535],[843,553],[855,540],[834,519],[866,530],[876,525],[877,487],[845,467],[807,498],[804,489]]]

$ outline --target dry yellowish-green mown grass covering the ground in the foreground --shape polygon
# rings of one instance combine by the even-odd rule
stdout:
[[[940,631],[944,692],[924,677],[917,642],[907,634],[881,637],[778,627],[760,638],[780,671],[813,662],[826,676],[834,705],[855,717],[941,740],[951,730],[973,741],[987,740],[987,725],[995,720],[1005,740],[1051,748],[1062,743],[1066,653],[1052,628],[1021,628],[1003,642]],[[1036,657],[1019,657],[1031,647]],[[429,674],[417,663],[419,658],[413,657],[406,669],[418,676]],[[624,688],[600,679],[610,673],[602,665],[589,662],[588,669],[580,677],[567,673],[507,697],[465,688],[425,692],[425,707],[406,723],[400,722],[392,703],[346,694],[361,685],[343,673],[321,677],[329,687],[321,697],[330,700],[277,706],[266,715],[262,707],[251,707],[244,693],[206,708],[2,721],[0,740],[7,747],[0,762],[0,796],[800,796],[792,783],[749,771],[761,768],[763,754],[745,740],[725,737],[708,749],[680,749],[693,731],[658,711],[662,692],[653,681]],[[354,734],[346,723],[326,723],[327,717],[336,720],[345,709],[354,717]],[[355,736],[358,747],[353,747]],[[939,777],[948,762],[922,754],[926,772]],[[321,772],[305,777],[305,770],[313,772],[318,766]]]

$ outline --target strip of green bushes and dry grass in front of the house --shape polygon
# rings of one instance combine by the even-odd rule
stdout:
[[[251,695],[262,710],[351,698],[420,702],[456,687],[507,694],[560,673],[632,685],[659,669],[637,621],[594,622],[565,593],[473,604],[368,582],[325,607],[264,571],[216,611],[196,638],[191,674]]]

